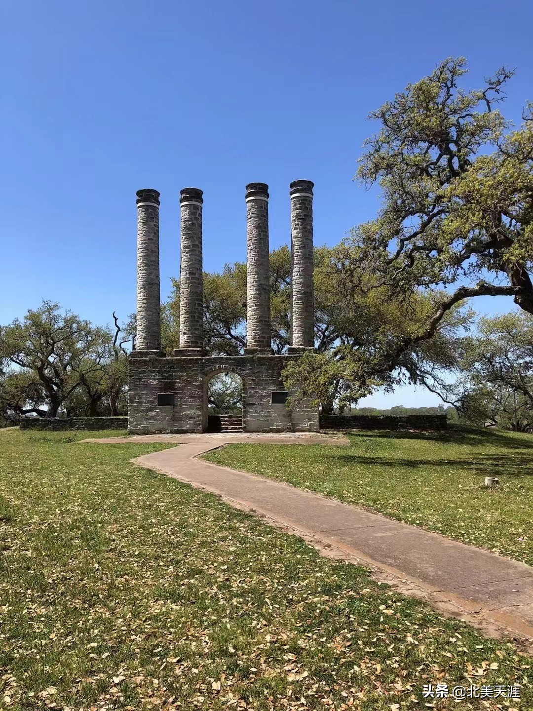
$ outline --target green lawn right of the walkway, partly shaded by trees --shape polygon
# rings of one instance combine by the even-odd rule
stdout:
[[[359,432],[351,447],[232,444],[205,455],[533,565],[533,437]],[[485,476],[500,478],[487,489]]]

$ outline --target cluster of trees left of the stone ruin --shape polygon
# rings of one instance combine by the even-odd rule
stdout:
[[[120,328],[94,326],[59,304],[43,301],[22,321],[0,329],[0,405],[6,418],[119,414],[127,358]],[[102,411],[102,402],[107,410]]]

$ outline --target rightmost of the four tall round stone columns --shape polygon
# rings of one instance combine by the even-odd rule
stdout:
[[[313,186],[309,180],[291,183],[292,347],[289,353],[313,348]]]

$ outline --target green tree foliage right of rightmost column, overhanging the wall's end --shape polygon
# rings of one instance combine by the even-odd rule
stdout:
[[[442,371],[458,368],[463,331],[473,319],[468,306],[454,306],[431,338],[414,343],[410,334],[424,326],[438,294],[400,297],[390,287],[350,291],[342,272],[333,279],[330,333],[335,338],[329,351],[309,351],[286,367],[286,387],[296,391],[292,402],[307,397],[321,403],[323,412],[333,405],[343,412],[377,387],[388,392],[406,382],[431,387]],[[339,294],[345,294],[342,305]]]

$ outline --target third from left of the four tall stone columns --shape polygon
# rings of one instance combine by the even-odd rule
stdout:
[[[246,186],[247,348],[244,353],[272,353],[270,333],[269,186]]]

